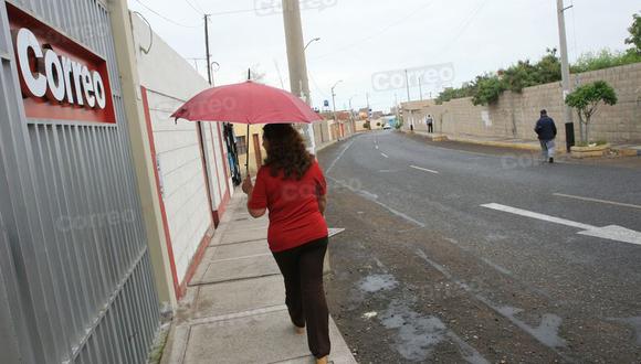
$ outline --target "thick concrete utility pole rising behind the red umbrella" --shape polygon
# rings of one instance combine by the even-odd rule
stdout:
[[[287,62],[290,66],[290,87],[292,94],[303,98],[311,106],[309,81],[307,78],[307,61],[303,44],[303,23],[301,20],[301,4],[298,0],[283,0],[283,20],[285,23],[285,42],[287,45]],[[316,142],[314,128],[303,126],[307,149],[315,153]]]

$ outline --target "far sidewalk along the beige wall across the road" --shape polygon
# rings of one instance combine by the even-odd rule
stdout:
[[[501,138],[501,137],[479,137],[479,136],[451,136],[444,133],[428,133],[422,130],[414,130],[414,135],[421,136],[431,141],[458,141],[469,144],[498,147],[498,148],[512,148],[522,149],[530,151],[540,151],[540,144],[536,140],[526,140],[517,138]],[[634,157],[641,156],[640,144],[611,144],[611,150],[621,157]],[[565,154],[565,144],[558,146],[557,153]]]

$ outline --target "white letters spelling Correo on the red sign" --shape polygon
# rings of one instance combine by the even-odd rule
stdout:
[[[88,108],[106,107],[105,84],[97,71],[60,56],[51,47],[44,46],[43,50],[35,35],[25,28],[15,35],[15,47],[23,92],[51,101]],[[35,69],[31,68],[32,61],[35,61]]]

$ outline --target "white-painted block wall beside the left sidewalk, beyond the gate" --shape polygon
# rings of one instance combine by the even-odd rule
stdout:
[[[132,22],[140,84],[147,90],[159,183],[176,271],[182,283],[200,243],[212,226],[212,215],[198,125],[185,120],[176,122],[170,115],[193,95],[208,88],[209,84],[157,34],[150,33],[147,23],[138,15],[132,14]],[[224,180],[220,180],[217,174],[210,174],[209,181],[213,191],[219,190],[221,182],[224,184]]]

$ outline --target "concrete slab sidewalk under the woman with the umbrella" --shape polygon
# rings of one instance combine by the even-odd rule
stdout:
[[[314,363],[284,306],[269,221],[250,217],[245,203],[237,191],[180,302],[161,363]],[[329,325],[329,362],[356,363],[334,320]]]

